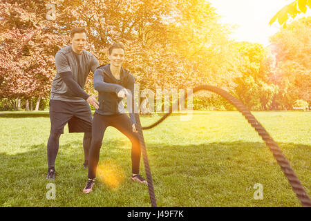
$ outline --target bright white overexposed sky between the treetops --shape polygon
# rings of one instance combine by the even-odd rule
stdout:
[[[269,37],[274,35],[281,26],[279,23],[269,25],[270,19],[283,6],[294,0],[207,0],[211,6],[216,8],[218,15],[222,16],[223,23],[238,25],[232,34],[236,41],[250,41],[254,43],[269,45]],[[297,18],[310,16],[301,14]]]

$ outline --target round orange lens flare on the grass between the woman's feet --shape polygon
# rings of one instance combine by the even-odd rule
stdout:
[[[117,189],[124,180],[124,171],[113,160],[101,162],[96,173],[98,179],[111,189]]]

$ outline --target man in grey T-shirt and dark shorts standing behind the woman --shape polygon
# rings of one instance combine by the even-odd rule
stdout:
[[[84,84],[90,70],[100,66],[86,46],[86,30],[73,28],[71,45],[55,55],[57,74],[50,92],[50,137],[48,138],[48,174],[55,179],[55,160],[59,149],[59,137],[68,123],[69,133],[84,133],[84,167],[88,166],[88,149],[91,146],[92,113],[89,104],[98,108],[95,96],[84,92]]]

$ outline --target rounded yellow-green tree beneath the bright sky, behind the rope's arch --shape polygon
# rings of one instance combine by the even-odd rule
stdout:
[[[239,71],[235,93],[250,110],[270,110],[272,99],[278,92],[270,80],[273,73],[272,57],[261,44],[236,43],[239,55]]]

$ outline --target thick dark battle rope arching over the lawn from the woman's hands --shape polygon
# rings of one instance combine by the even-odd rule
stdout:
[[[274,142],[272,137],[270,137],[270,135],[267,133],[267,131],[265,131],[265,128],[263,128],[263,126],[261,126],[261,124],[257,121],[257,119],[254,117],[254,115],[252,115],[252,113],[250,113],[250,111],[248,111],[248,109],[244,106],[244,104],[242,102],[240,102],[238,99],[236,99],[236,97],[227,93],[225,90],[217,88],[215,86],[209,86],[209,85],[197,86],[196,88],[193,89],[193,93],[196,93],[199,90],[209,90],[211,92],[217,93],[221,97],[224,97],[225,99],[227,99],[227,101],[230,104],[235,106],[238,109],[238,111],[240,111],[242,113],[242,115],[244,115],[244,117],[247,119],[249,124],[251,124],[252,127],[255,128],[255,130],[258,132],[258,134],[265,141],[265,144],[267,144],[267,146],[270,148],[270,151],[272,151],[274,158],[276,159],[276,162],[278,162],[279,165],[281,166],[283,173],[288,178],[288,181],[290,182],[292,189],[296,193],[297,198],[299,198],[299,200],[301,201],[301,204],[303,206],[311,207],[311,200],[310,200],[308,194],[305,192],[305,189],[303,188],[303,185],[299,181],[298,177],[294,173],[294,170],[290,166],[290,162],[288,162],[286,157],[283,155],[278,144],[276,144],[276,142]],[[187,96],[185,95],[185,97],[187,97]],[[182,102],[184,102],[183,97],[180,98],[179,104],[182,104]],[[147,151],[146,151],[146,146],[144,144],[144,137],[142,135],[142,130],[147,130],[147,129],[153,128],[154,126],[157,126],[165,118],[167,118],[171,114],[171,112],[172,112],[172,109],[170,108],[169,113],[166,113],[163,117],[161,117],[158,120],[158,122],[151,124],[150,126],[145,126],[145,127],[141,126],[139,116],[138,116],[138,114],[135,114],[135,119],[136,119],[136,122],[138,124],[138,133],[139,133],[139,137],[140,137],[140,144],[142,145],[141,146],[142,147],[142,154],[144,157],[144,165],[145,165],[145,170],[146,170],[146,175],[147,175],[151,206],[156,206],[156,197],[155,197],[154,191],[153,191],[151,171],[150,171],[149,162],[148,162],[148,158],[147,158]]]

